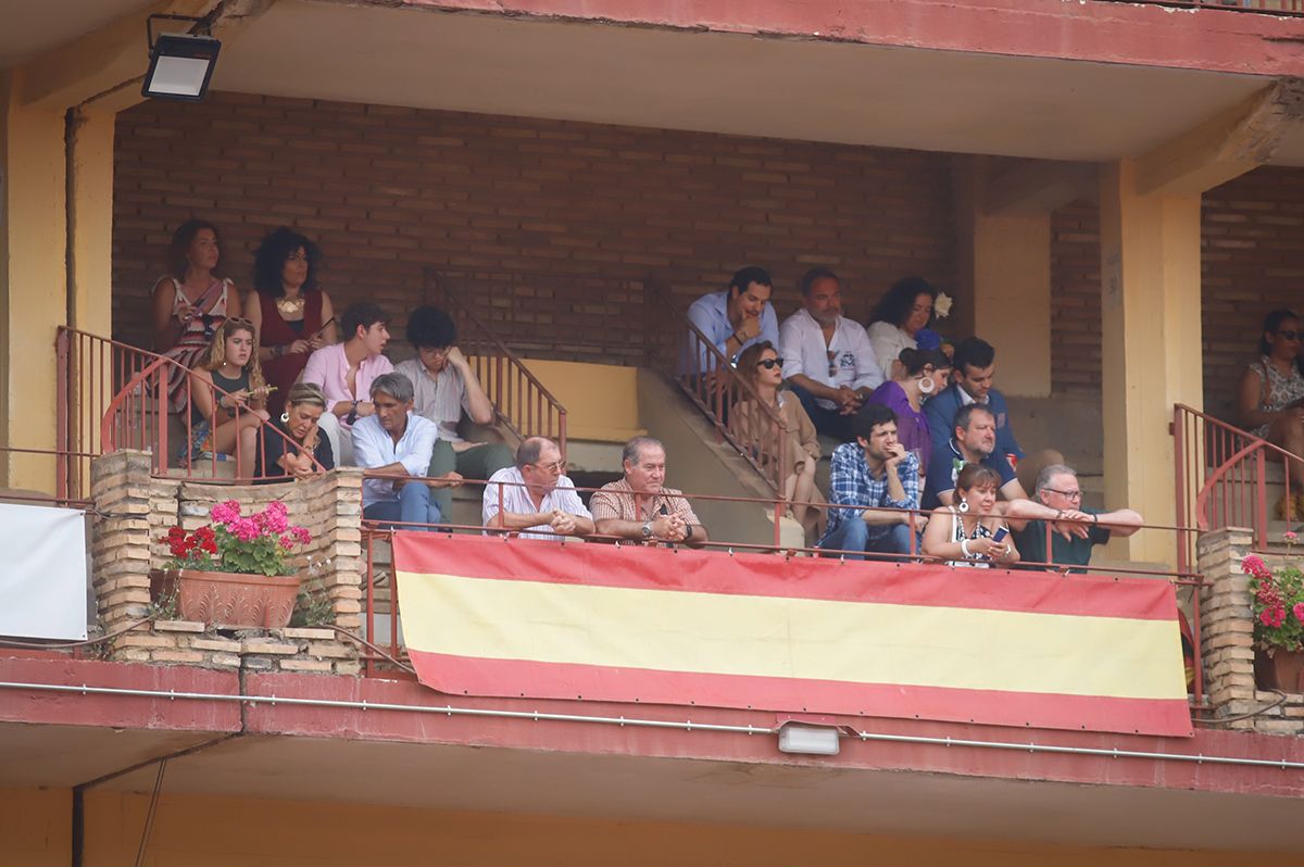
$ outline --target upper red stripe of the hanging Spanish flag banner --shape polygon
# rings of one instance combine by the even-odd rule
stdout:
[[[395,533],[395,567],[424,575],[583,584],[733,596],[775,596],[971,608],[994,611],[1171,621],[1164,580],[953,568],[940,565],[784,558],[690,549]]]

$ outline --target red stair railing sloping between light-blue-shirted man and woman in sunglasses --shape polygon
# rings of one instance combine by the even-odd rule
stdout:
[[[738,375],[725,353],[674,305],[664,287],[653,280],[644,287],[655,300],[649,310],[659,313],[647,322],[649,334],[657,338],[648,343],[649,364],[707,416],[719,439],[733,446],[771,489],[781,493],[789,469],[788,422],[782,413],[764,403],[751,383]],[[738,412],[745,403],[746,415]]]

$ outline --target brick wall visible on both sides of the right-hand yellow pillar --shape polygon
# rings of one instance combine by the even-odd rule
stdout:
[[[1205,404],[1231,412],[1264,314],[1304,306],[1304,171],[1260,168],[1205,194]],[[1099,214],[1074,203],[1052,218],[1052,360],[1056,392],[1101,390]]]

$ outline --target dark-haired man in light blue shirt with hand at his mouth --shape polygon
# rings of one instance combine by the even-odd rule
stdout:
[[[696,326],[720,352],[733,362],[752,343],[769,340],[778,349],[778,318],[769,304],[775,291],[769,272],[763,267],[745,267],[729,280],[722,292],[703,295],[689,308],[689,322]],[[696,349],[694,342],[690,347]],[[691,349],[690,349],[691,352]],[[698,352],[695,368],[687,373],[709,373],[715,364],[707,351]]]

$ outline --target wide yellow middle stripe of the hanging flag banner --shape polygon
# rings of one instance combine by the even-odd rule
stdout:
[[[1175,621],[403,571],[398,585],[407,645],[429,653],[844,683],[1187,696]]]

